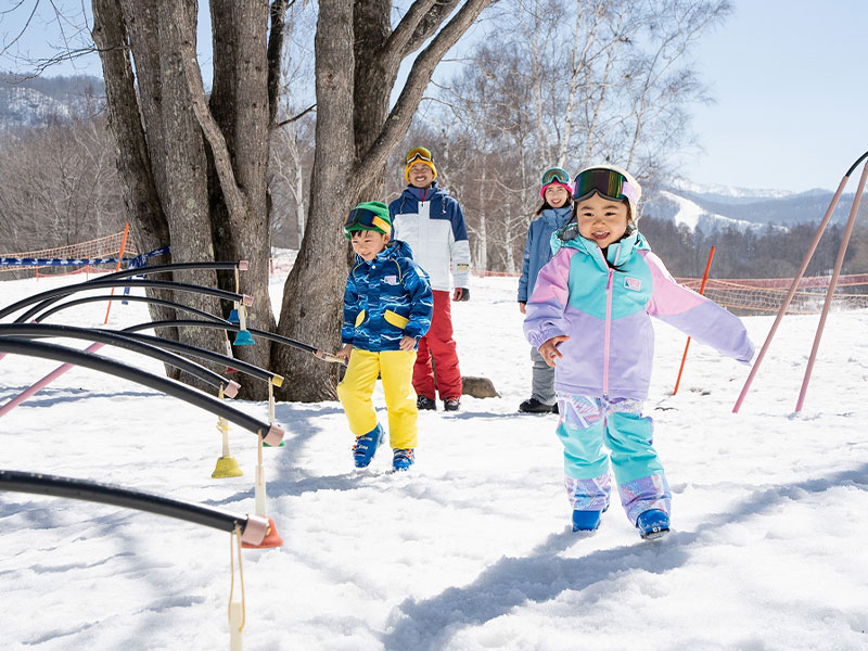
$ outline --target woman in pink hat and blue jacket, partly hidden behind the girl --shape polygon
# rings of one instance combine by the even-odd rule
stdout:
[[[542,173],[539,195],[542,205],[536,212],[537,218],[527,229],[524,243],[522,275],[519,278],[519,309],[526,314],[527,297],[533,294],[539,270],[551,259],[551,233],[566,226],[573,216],[573,188],[570,175],[560,167],[551,167]],[[558,412],[554,396],[554,369],[546,363],[536,348],[531,348],[533,375],[531,397],[519,405],[525,413]]]

